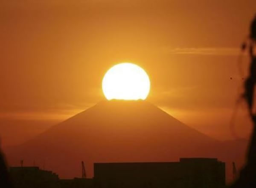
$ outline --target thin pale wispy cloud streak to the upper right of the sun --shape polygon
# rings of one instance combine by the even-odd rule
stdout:
[[[170,54],[238,55],[239,48],[163,48]]]

